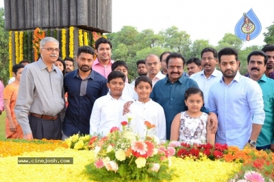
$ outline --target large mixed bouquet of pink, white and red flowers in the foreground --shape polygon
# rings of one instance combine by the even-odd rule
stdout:
[[[171,180],[169,166],[175,148],[158,144],[158,140],[149,135],[140,139],[123,122],[122,131],[114,127],[106,137],[90,139],[95,163],[86,166],[86,172],[95,181]]]

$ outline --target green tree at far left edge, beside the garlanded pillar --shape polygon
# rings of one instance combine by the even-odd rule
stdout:
[[[4,8],[0,8],[0,80],[3,80],[3,83],[7,84],[10,78],[8,58],[9,33],[5,30],[4,15]]]

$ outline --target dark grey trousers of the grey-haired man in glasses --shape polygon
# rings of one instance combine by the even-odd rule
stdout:
[[[61,139],[61,121],[46,120],[29,115],[29,126],[32,130],[34,139]]]

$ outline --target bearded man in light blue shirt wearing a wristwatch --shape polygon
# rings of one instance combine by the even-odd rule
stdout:
[[[264,124],[262,89],[238,72],[236,49],[223,48],[218,58],[223,78],[212,84],[208,95],[208,109],[218,113],[216,143],[255,148]]]

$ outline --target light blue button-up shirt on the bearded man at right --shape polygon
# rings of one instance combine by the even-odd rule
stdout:
[[[264,124],[262,89],[239,72],[229,85],[223,78],[212,84],[208,109],[218,113],[216,143],[242,149],[251,136],[252,124]]]

